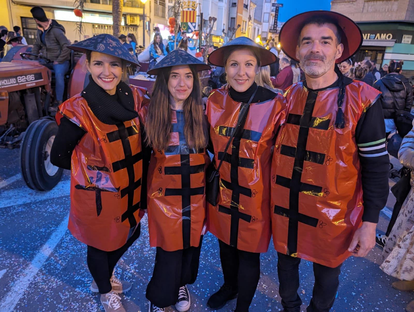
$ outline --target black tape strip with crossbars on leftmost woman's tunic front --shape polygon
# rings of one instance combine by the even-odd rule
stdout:
[[[128,206],[127,210],[121,216],[121,222],[124,222],[126,219],[128,219],[131,229],[128,237],[130,237],[130,235],[132,235],[133,230],[137,226],[137,220],[134,217],[134,212],[140,209],[140,202],[137,202],[134,205],[134,192],[137,188],[141,186],[141,178],[135,181],[134,164],[142,160],[142,152],[138,152],[137,154],[132,155],[132,149],[129,138],[139,134],[138,129],[135,125],[125,127],[125,124],[119,123],[116,125],[116,127],[118,128],[118,130],[107,133],[106,137],[108,137],[109,142],[120,140],[125,155],[124,159],[112,163],[112,168],[113,172],[116,172],[124,168],[127,169],[128,186],[121,190],[121,198],[128,195]]]

